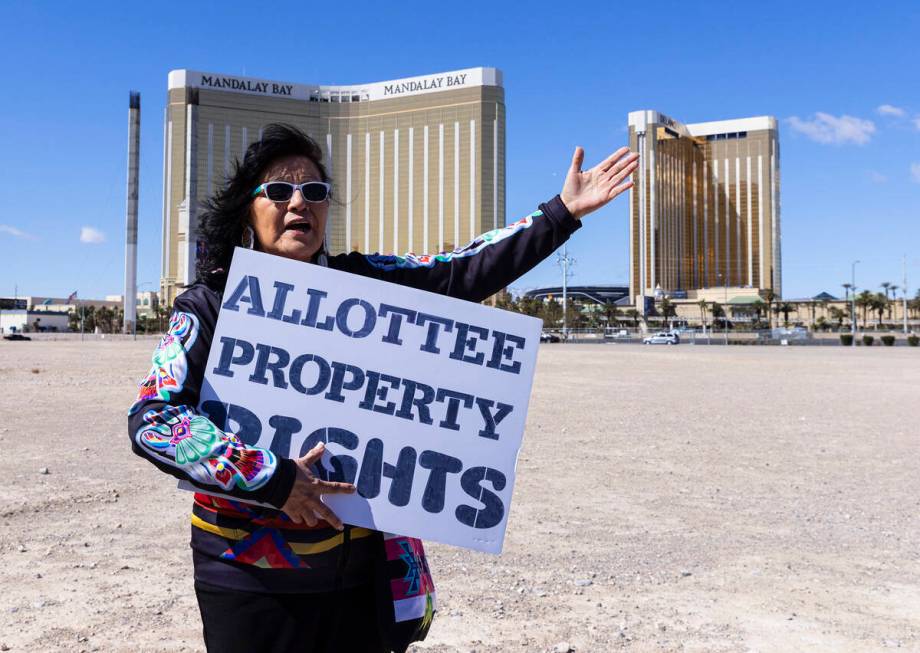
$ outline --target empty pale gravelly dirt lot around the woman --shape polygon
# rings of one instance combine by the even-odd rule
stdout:
[[[203,650],[153,344],[0,342],[2,650]],[[918,417],[912,348],[546,345],[505,553],[429,547],[417,650],[920,650]]]

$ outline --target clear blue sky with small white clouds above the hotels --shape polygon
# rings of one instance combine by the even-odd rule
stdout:
[[[785,296],[842,293],[854,259],[857,285],[901,285],[905,254],[920,286],[916,2],[135,4],[5,5],[0,295],[121,292],[131,89],[138,282],[156,288],[175,68],[329,84],[500,68],[509,220],[560,190],[575,145],[594,162],[623,144],[629,111],[774,115]],[[589,216],[571,283],[625,282],[626,234],[625,197]],[[550,259],[514,287],[559,279]]]

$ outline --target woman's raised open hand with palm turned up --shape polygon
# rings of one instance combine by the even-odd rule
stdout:
[[[628,147],[621,147],[590,170],[582,171],[585,150],[576,147],[560,193],[562,203],[578,220],[596,211],[632,187],[632,179],[627,178],[635,172],[638,159],[638,154],[630,152]]]

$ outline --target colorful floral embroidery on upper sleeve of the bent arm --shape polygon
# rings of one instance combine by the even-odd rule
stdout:
[[[169,318],[169,329],[153,352],[153,367],[141,381],[137,401],[129,414],[137,411],[145,401],[169,401],[170,395],[182,390],[188,373],[186,351],[198,338],[198,318],[191,313],[176,311]]]

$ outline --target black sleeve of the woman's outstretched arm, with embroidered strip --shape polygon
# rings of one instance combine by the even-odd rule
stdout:
[[[330,267],[470,301],[482,301],[529,271],[568,240],[581,222],[557,195],[537,211],[470,243],[435,255],[352,252]]]

